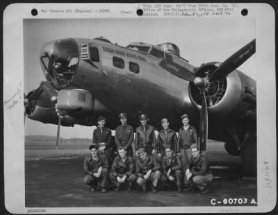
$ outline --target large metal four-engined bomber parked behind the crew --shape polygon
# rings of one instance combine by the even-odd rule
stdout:
[[[51,41],[40,51],[46,81],[26,95],[25,114],[58,130],[60,125],[94,126],[104,115],[115,130],[120,112],[134,127],[145,113],[156,128],[167,118],[177,131],[187,113],[199,131],[200,150],[206,151],[208,138],[224,141],[229,154],[242,156],[245,174],[254,175],[256,81],[237,68],[255,51],[252,40],[222,63],[194,67],[171,42],[124,47],[105,37]]]

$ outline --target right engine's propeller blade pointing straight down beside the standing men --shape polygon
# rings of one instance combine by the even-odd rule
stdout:
[[[206,151],[206,142],[208,139],[208,108],[206,106],[206,96],[202,91],[202,108],[199,123],[199,149]]]

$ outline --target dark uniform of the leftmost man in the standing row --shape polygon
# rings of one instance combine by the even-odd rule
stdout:
[[[92,135],[92,144],[97,146],[106,146],[104,155],[106,156],[108,163],[111,165],[111,146],[113,144],[111,129],[106,127],[96,128]]]

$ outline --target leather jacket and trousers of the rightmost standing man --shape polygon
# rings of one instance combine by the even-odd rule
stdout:
[[[181,164],[183,167],[184,184],[189,185],[186,179],[186,165],[188,164],[191,155],[190,146],[192,144],[197,144],[197,132],[193,126],[189,126],[187,130],[183,127],[179,129],[179,137],[177,142],[177,153],[181,153]]]

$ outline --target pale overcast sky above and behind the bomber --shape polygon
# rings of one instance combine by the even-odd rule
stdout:
[[[254,17],[218,18],[138,18],[138,19],[25,19],[24,20],[24,92],[27,94],[45,80],[40,67],[42,45],[65,37],[104,36],[126,46],[131,42],[160,44],[173,42],[181,57],[199,66],[204,62],[223,62],[255,38]],[[238,69],[256,80],[256,55]],[[26,135],[56,135],[57,126],[26,117]],[[61,126],[60,136],[92,137],[92,127]]]

